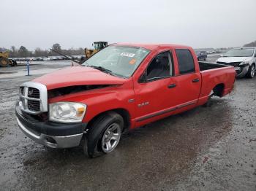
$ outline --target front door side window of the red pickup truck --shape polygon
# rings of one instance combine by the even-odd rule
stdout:
[[[173,75],[173,57],[169,51],[157,55],[146,69],[146,80]]]

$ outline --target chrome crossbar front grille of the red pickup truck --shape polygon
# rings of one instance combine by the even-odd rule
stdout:
[[[20,109],[30,114],[48,111],[48,93],[45,85],[26,82],[20,86]]]

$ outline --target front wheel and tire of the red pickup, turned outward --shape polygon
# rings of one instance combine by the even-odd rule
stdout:
[[[89,157],[113,152],[120,141],[123,128],[124,120],[120,114],[102,114],[92,123],[88,135],[83,137],[83,152]]]

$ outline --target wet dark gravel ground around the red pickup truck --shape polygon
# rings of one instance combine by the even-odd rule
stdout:
[[[18,85],[69,64],[37,63],[30,77],[25,66],[0,69],[0,190],[256,190],[256,78],[237,79],[230,95],[133,130],[110,155],[89,159],[80,148],[35,144],[15,121]]]

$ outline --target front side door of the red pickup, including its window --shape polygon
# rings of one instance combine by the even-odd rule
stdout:
[[[157,120],[176,106],[176,82],[173,79],[173,57],[170,51],[161,52],[148,64],[143,77],[135,82],[136,125]],[[170,111],[169,111],[170,110]]]

